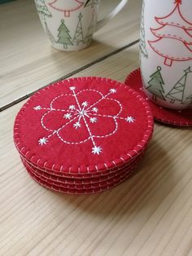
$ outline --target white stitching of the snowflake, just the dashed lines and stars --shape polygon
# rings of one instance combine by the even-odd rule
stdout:
[[[93,144],[93,148],[92,148],[92,153],[93,154],[97,154],[99,155],[100,153],[103,152],[103,148],[101,148],[100,146],[97,145],[97,143],[95,142],[94,138],[107,138],[108,136],[114,135],[116,133],[116,131],[118,130],[118,123],[117,123],[117,119],[120,120],[124,120],[127,121],[128,123],[133,123],[135,121],[134,117],[120,117],[120,113],[122,112],[122,105],[120,104],[120,101],[117,99],[112,99],[109,98],[108,96],[111,94],[115,94],[116,93],[116,89],[111,88],[109,90],[109,92],[107,93],[107,95],[103,95],[100,91],[98,90],[80,90],[76,93],[76,87],[75,86],[71,86],[69,87],[69,90],[72,91],[72,94],[62,94],[59,95],[57,97],[55,97],[54,99],[51,100],[50,102],[50,108],[45,108],[45,107],[41,107],[40,105],[37,105],[35,107],[33,107],[33,109],[35,111],[40,111],[40,110],[48,110],[48,112],[44,113],[41,117],[41,126],[51,132],[50,135],[47,135],[41,139],[38,140],[39,145],[43,146],[46,143],[49,143],[49,139],[51,136],[53,135],[57,135],[58,138],[63,142],[63,143],[67,143],[67,144],[79,144],[79,143],[85,143],[86,141],[88,141],[89,139],[91,140],[92,144]],[[94,102],[94,104],[91,104],[89,106],[89,103],[87,101],[84,101],[82,104],[80,103],[79,99],[78,99],[78,95],[80,95],[81,93],[85,92],[85,91],[94,91],[96,92],[98,95],[100,95],[100,99],[98,99],[96,102]],[[65,96],[71,96],[74,97],[76,104],[71,104],[69,105],[68,109],[62,109],[62,108],[54,108],[53,104],[55,103],[55,101],[57,99],[59,99],[60,97],[65,97]],[[111,102],[116,102],[116,104],[119,105],[119,112],[116,113],[116,115],[105,115],[105,114],[99,114],[99,109],[96,108],[95,106],[101,102],[103,99],[108,99]],[[53,130],[48,128],[45,123],[44,123],[44,119],[46,118],[47,115],[49,115],[52,112],[55,111],[59,111],[59,112],[63,112],[65,113],[63,115],[63,118],[66,120],[71,120],[68,121],[67,123],[65,123],[63,126],[59,127],[59,129],[57,130]],[[93,117],[96,116],[96,117]],[[98,118],[97,117],[106,117],[106,118],[111,118],[114,123],[115,123],[115,129],[112,130],[111,132],[108,132],[107,135],[94,135],[89,127],[89,122],[88,122],[88,118],[90,123],[97,123],[98,122]],[[74,122],[76,119],[78,118],[78,120],[76,122]],[[65,128],[66,126],[68,126],[70,123],[73,123],[73,127],[77,130],[79,128],[81,128],[81,119],[83,120],[83,124],[86,127],[86,130],[89,134],[89,137],[86,139],[81,139],[80,141],[76,141],[76,142],[72,142],[72,141],[68,141],[66,139],[63,139],[62,135],[59,134],[60,130],[63,130],[63,128]]]

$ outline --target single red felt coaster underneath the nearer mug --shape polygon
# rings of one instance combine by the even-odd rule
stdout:
[[[143,97],[146,98],[145,92],[142,90],[142,77],[140,68],[134,70],[126,78],[126,85],[137,90]],[[146,98],[147,99],[147,98]],[[192,126],[192,109],[174,110],[162,108],[148,99],[152,113],[156,121],[172,126]]]

